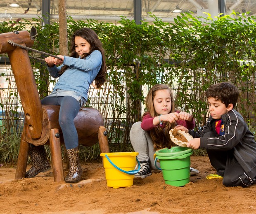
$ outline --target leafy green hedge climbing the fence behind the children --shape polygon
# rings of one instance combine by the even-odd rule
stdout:
[[[254,130],[256,18],[238,16],[235,12],[217,20],[208,15],[202,18],[185,13],[177,16],[175,23],[154,17],[153,24],[144,21],[141,25],[126,17],[122,17],[119,25],[68,19],[69,38],[79,28],[92,28],[106,52],[108,81],[96,97],[89,93],[87,105],[99,109],[106,119],[111,151],[131,149],[131,125],[141,120],[145,110],[141,105],[145,98],[142,87],[150,88],[157,83],[169,84],[175,94],[176,108],[191,112],[196,126],[201,127],[208,116],[206,88],[220,81],[233,82],[241,91],[237,110]],[[41,26],[40,20],[23,20],[10,29],[11,24],[12,21],[0,22],[0,32],[30,30],[33,26],[38,31],[33,49],[59,54],[58,23]],[[38,56],[34,52],[29,54]],[[43,98],[49,93],[52,80],[44,63],[31,60],[31,65]],[[7,124],[3,125],[2,144],[10,133]],[[97,149],[93,156],[98,154]]]

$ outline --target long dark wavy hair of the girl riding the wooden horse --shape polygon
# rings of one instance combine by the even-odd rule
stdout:
[[[71,45],[70,45],[70,55],[71,57],[78,58],[79,55],[76,53],[75,48],[75,37],[82,37],[90,44],[90,51],[89,53],[84,53],[81,55],[81,59],[85,58],[86,56],[89,56],[92,51],[98,50],[102,54],[102,65],[100,68],[99,73],[95,77],[95,86],[96,88],[100,88],[106,81],[106,74],[107,74],[107,66],[105,62],[105,54],[104,49],[102,48],[102,43],[100,42],[99,37],[95,33],[94,30],[90,28],[81,28],[80,30],[77,30],[72,38],[71,38]],[[61,70],[59,71],[60,74],[62,74],[69,66],[64,65]]]

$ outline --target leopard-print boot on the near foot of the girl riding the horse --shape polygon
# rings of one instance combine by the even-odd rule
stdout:
[[[73,149],[67,149],[69,158],[69,173],[65,178],[66,183],[74,183],[81,180],[82,168],[78,158],[78,147]]]

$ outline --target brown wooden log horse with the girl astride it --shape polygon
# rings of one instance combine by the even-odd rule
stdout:
[[[21,135],[15,179],[25,177],[30,144],[35,146],[50,143],[54,181],[64,181],[60,144],[64,143],[59,126],[59,106],[41,105],[33,76],[28,51],[14,47],[9,41],[24,47],[32,47],[36,36],[26,30],[0,34],[0,54],[7,53],[24,109],[24,130]],[[100,151],[109,152],[106,128],[100,112],[94,108],[81,108],[74,119],[79,143],[92,146],[99,141]]]

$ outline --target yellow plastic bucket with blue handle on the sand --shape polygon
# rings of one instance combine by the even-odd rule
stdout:
[[[107,186],[114,189],[133,186],[134,175],[140,170],[140,162],[136,158],[138,152],[101,153],[105,168]],[[135,169],[136,161],[138,169]]]

